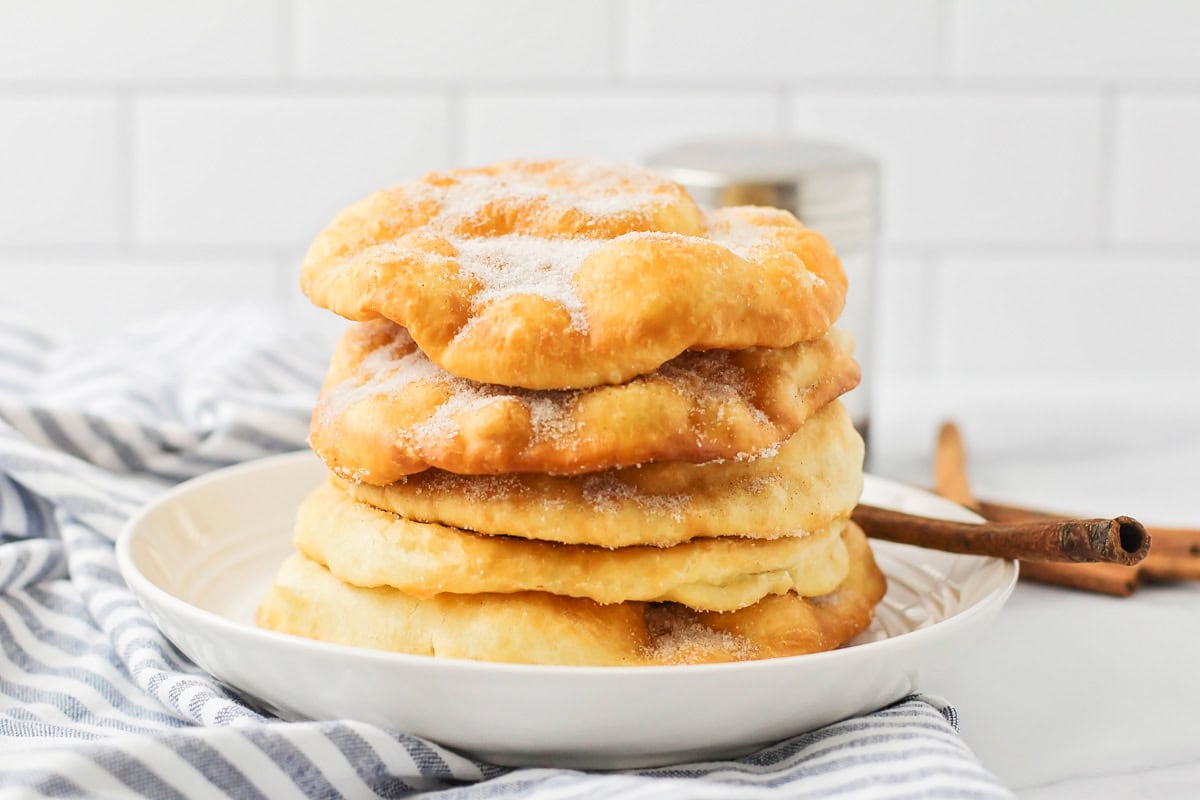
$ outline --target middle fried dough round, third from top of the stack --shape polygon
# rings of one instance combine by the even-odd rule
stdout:
[[[659,462],[589,475],[455,475],[390,486],[332,479],[408,519],[568,545],[666,547],[707,536],[775,539],[848,517],[863,491],[863,439],[833,402],[774,456]]]

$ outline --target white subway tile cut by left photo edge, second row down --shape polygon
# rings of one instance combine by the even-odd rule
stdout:
[[[121,237],[116,103],[0,101],[0,243],[110,243]]]

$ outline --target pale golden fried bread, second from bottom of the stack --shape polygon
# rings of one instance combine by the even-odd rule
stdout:
[[[610,549],[413,522],[355,503],[326,483],[300,506],[294,541],[344,583],[391,587],[414,597],[548,591],[605,604],[673,601],[734,610],[772,594],[833,591],[848,569],[845,524],[840,519],[774,540],[721,537]]]

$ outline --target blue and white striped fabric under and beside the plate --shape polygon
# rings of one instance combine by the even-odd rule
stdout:
[[[611,774],[256,711],[155,628],[113,540],[172,483],[302,447],[326,359],[277,309],[73,344],[0,314],[0,798],[1012,796],[925,697],[736,762]]]

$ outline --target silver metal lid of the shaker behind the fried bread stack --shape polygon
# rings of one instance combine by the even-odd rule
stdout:
[[[835,247],[870,241],[878,228],[878,164],[845,145],[811,139],[703,139],[659,150],[646,164],[682,184],[704,207],[787,209]]]

